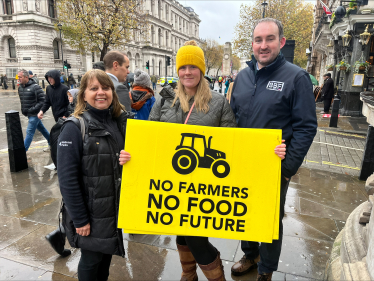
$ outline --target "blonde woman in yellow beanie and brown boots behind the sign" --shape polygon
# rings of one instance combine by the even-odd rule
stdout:
[[[235,116],[225,97],[211,91],[204,78],[203,50],[188,41],[178,50],[177,87],[165,86],[149,115],[151,121],[211,127],[236,127]],[[196,263],[210,281],[225,280],[220,253],[208,237],[177,236],[183,281],[197,280]]]

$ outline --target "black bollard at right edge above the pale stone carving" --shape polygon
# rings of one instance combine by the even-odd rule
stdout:
[[[369,125],[364,155],[361,162],[360,180],[366,181],[374,173],[374,127]]]

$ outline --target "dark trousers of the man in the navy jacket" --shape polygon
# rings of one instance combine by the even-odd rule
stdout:
[[[258,263],[258,273],[270,273],[277,271],[280,253],[282,250],[283,238],[283,223],[284,205],[286,203],[286,194],[290,181],[283,176],[281,179],[281,194],[280,194],[280,212],[279,212],[279,239],[273,240],[273,243],[243,241],[241,243],[242,251],[249,260],[254,260],[260,255],[260,262]]]

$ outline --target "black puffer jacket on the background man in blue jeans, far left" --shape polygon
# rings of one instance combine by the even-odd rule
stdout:
[[[45,94],[35,81],[30,79],[26,85],[18,88],[19,99],[21,100],[21,111],[25,116],[36,116],[45,100]]]

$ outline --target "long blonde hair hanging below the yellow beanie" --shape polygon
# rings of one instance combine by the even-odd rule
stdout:
[[[208,81],[204,78],[204,74],[200,71],[200,82],[197,85],[196,94],[194,96],[195,98],[195,108],[197,111],[202,111],[204,113],[207,113],[209,111],[209,105],[208,103],[212,99],[212,93],[209,88]],[[192,98],[192,96],[187,95],[186,90],[184,89],[184,86],[178,80],[177,87],[175,89],[175,98],[173,101],[172,107],[175,105],[176,101],[179,99],[180,106],[183,110],[183,112],[188,112],[190,110],[189,101]]]

